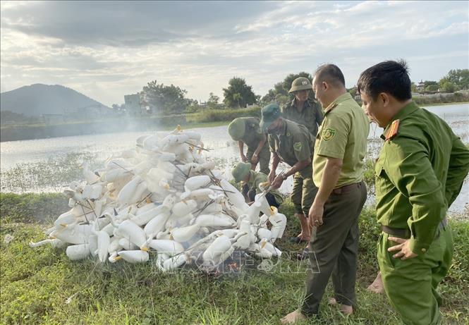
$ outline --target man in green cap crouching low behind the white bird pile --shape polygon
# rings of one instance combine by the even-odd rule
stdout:
[[[255,195],[261,193],[264,188],[269,187],[267,182],[267,175],[259,171],[252,171],[249,163],[240,162],[234,166],[231,171],[233,178],[236,182],[242,182],[242,191],[245,199],[249,204],[252,204],[255,200]],[[273,207],[279,207],[284,202],[284,197],[281,196],[279,190],[272,189],[266,195],[265,198],[269,205]]]

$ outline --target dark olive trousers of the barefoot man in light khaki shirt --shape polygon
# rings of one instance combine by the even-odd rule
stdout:
[[[324,223],[312,229],[303,314],[319,313],[319,302],[331,276],[337,302],[355,305],[358,216],[366,198],[365,183],[360,182],[334,190],[324,204]]]

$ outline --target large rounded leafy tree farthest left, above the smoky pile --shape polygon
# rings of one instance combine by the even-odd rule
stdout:
[[[180,87],[172,84],[165,86],[153,80],[143,87],[140,98],[153,114],[180,114],[188,106],[189,100],[185,99],[185,94],[187,91]]]

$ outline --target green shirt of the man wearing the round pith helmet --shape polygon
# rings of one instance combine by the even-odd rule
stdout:
[[[305,125],[306,128],[310,130],[310,133],[313,136],[316,136],[317,128],[319,128],[319,125],[321,125],[323,120],[322,110],[316,103],[311,104],[306,101],[305,106],[303,106],[303,111],[298,111],[298,109],[296,109],[295,101],[296,99],[293,99],[281,108],[282,117],[298,124]]]

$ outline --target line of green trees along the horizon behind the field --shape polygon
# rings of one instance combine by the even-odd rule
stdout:
[[[152,80],[147,83],[139,92],[140,105],[144,108],[143,112],[147,114],[169,115],[183,114],[204,109],[240,109],[248,105],[268,104],[277,102],[286,104],[293,100],[293,94],[288,94],[291,83],[298,77],[312,79],[312,75],[307,72],[290,73],[284,80],[276,82],[267,94],[261,97],[252,90],[244,78],[233,77],[228,85],[223,88],[223,101],[213,92],[209,93],[207,102],[197,102],[195,99],[188,98],[187,91],[176,85],[164,85]],[[449,70],[449,73],[437,81],[412,83],[413,92],[455,92],[458,90],[469,89],[469,69]],[[356,94],[355,87],[348,90],[353,96]],[[310,92],[310,99],[314,100],[314,94]],[[124,111],[126,105],[112,105],[113,109]]]

